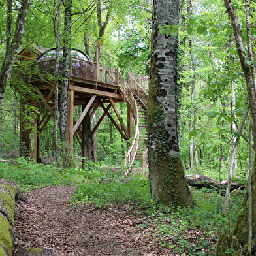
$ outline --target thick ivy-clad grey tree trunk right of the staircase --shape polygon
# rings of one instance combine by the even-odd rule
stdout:
[[[178,25],[178,0],[154,0],[148,98],[148,158],[152,197],[173,206],[191,204],[177,132],[177,35],[160,27]],[[175,32],[175,31],[174,31]]]

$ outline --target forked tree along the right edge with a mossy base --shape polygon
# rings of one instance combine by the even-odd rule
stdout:
[[[246,0],[246,33],[247,40],[244,45],[242,37],[242,29],[236,10],[230,0],[224,0],[225,6],[229,17],[231,18],[232,28],[234,31],[234,40],[236,41],[236,48],[238,50],[238,56],[242,71],[244,73],[244,79],[246,81],[246,88],[249,100],[249,108],[251,110],[251,119],[253,120],[252,135],[254,142],[254,163],[251,170],[251,195],[249,192],[244,197],[240,214],[236,220],[236,225],[232,234],[223,233],[219,237],[219,242],[216,247],[216,256],[227,255],[227,249],[232,248],[232,255],[255,255],[256,248],[256,89],[255,89],[255,59],[253,57],[252,45],[251,45],[251,24],[250,24],[250,6],[249,1]],[[249,158],[249,157],[248,157]],[[249,212],[249,198],[252,199],[252,209]],[[249,227],[249,217],[251,219],[251,227]],[[250,231],[252,232],[249,232]],[[229,254],[231,255],[231,254]]]

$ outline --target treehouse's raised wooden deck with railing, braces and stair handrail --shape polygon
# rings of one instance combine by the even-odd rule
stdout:
[[[47,60],[41,62],[34,62],[36,72],[29,78],[29,82],[37,88],[37,93],[40,96],[41,102],[48,109],[48,116],[45,118],[46,122],[40,121],[38,117],[37,123],[39,123],[39,131],[44,129],[50,116],[54,116],[52,110],[54,105],[54,88],[55,88],[55,78],[54,78],[54,67],[55,60]],[[62,63],[60,63],[60,69]],[[61,79],[60,79],[61,80]],[[86,103],[86,98],[90,98],[89,103]],[[126,102],[129,112],[131,115],[127,117],[127,125],[124,125],[120,114],[115,106],[115,103]],[[108,103],[108,106],[104,106],[104,103]],[[139,103],[139,104],[138,104]],[[141,76],[139,74],[128,73],[128,79],[126,80],[120,73],[118,68],[107,67],[91,61],[85,61],[82,59],[72,58],[72,63],[70,67],[70,78],[69,78],[69,114],[68,114],[68,126],[69,126],[69,136],[70,145],[72,148],[73,136],[78,134],[82,141],[84,141],[84,135],[80,130],[80,126],[83,125],[83,119],[92,108],[101,107],[104,110],[102,118],[99,122],[92,127],[92,133],[95,133],[97,127],[103,120],[104,116],[108,116],[110,120],[114,123],[121,136],[125,140],[129,140],[133,137],[132,123],[133,120],[136,124],[136,135],[131,148],[126,155],[127,162],[129,165],[134,161],[136,150],[138,149],[138,107],[143,107],[146,109],[148,103],[148,77]],[[33,104],[33,103],[31,103]],[[86,105],[87,104],[87,105]],[[83,106],[84,110],[78,118],[74,121],[74,107]],[[119,123],[112,118],[108,110],[114,108],[114,112],[118,117]],[[94,111],[94,110],[92,110]],[[131,117],[133,117],[131,119]],[[40,127],[40,124],[42,125]],[[25,135],[28,136],[28,135]],[[34,148],[34,157],[39,159],[39,146],[36,144]]]

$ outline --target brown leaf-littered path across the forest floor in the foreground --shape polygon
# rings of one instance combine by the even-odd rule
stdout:
[[[163,248],[148,225],[150,217],[138,216],[132,206],[75,206],[69,202],[74,191],[45,187],[28,193],[26,202],[16,202],[14,251],[35,247],[59,256],[187,255]]]

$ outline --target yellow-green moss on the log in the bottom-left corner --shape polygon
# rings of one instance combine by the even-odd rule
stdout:
[[[12,255],[12,226],[2,215],[0,215],[0,244]]]

